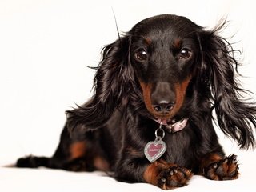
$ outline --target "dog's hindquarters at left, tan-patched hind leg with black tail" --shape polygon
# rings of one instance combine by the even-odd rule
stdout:
[[[83,134],[86,135],[86,134]],[[86,138],[87,137],[87,138]],[[52,158],[29,156],[19,158],[16,166],[37,168],[45,166],[52,169],[71,171],[108,170],[109,164],[102,152],[95,135],[90,133],[85,138],[70,138],[67,127],[64,127],[61,141]]]

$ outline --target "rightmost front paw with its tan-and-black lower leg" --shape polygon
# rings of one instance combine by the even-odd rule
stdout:
[[[230,180],[238,178],[238,170],[236,155],[223,158],[219,154],[208,154],[202,159],[200,174],[212,180]]]

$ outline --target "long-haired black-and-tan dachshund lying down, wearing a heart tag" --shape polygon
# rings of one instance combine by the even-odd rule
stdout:
[[[66,111],[53,157],[19,158],[16,166],[102,170],[163,190],[186,186],[194,174],[238,178],[237,157],[224,154],[214,121],[248,149],[256,108],[242,98],[240,63],[218,35],[225,26],[206,30],[172,14],[138,22],[103,48],[94,95]]]

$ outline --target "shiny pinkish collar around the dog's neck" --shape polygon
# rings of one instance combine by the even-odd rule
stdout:
[[[170,134],[174,134],[175,132],[181,131],[186,127],[186,123],[189,119],[182,118],[182,120],[178,122],[173,122],[173,124],[169,124],[166,121],[162,121],[161,119],[154,119],[155,122],[159,124],[162,122],[162,125],[165,126],[165,130],[167,130]]]

